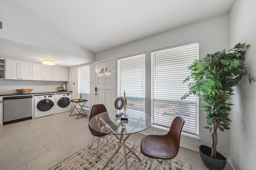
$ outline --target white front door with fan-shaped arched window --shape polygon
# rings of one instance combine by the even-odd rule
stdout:
[[[95,64],[95,104],[114,109],[114,61]]]

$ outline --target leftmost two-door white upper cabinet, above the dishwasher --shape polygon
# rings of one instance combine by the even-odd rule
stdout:
[[[32,80],[32,63],[6,59],[6,79]]]

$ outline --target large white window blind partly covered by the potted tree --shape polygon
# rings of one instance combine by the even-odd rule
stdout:
[[[184,118],[183,131],[198,135],[198,97],[180,98],[188,92],[183,84],[188,66],[198,59],[198,43],[151,52],[151,111],[154,123],[170,127],[174,117]]]

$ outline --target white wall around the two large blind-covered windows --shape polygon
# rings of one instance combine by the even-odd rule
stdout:
[[[200,57],[204,57],[207,53],[213,53],[215,51],[221,51],[223,48],[228,48],[228,14],[192,23],[190,25],[179,27],[158,35],[134,41],[133,43],[97,53],[95,61],[116,58],[115,68],[117,69],[117,59],[119,57],[146,52],[146,112],[150,112],[150,52],[152,50],[193,41],[199,41]],[[208,146],[212,145],[212,137],[209,131],[203,128],[206,125],[204,117],[204,113],[200,111],[199,137],[201,137],[201,140],[198,141],[198,139],[182,137],[182,145],[186,145],[194,149],[198,149],[198,146],[201,144]],[[158,131],[160,134],[166,133],[166,131],[160,131],[153,128],[146,131],[146,133],[152,133],[153,131]],[[218,151],[229,155],[229,131],[224,131],[224,133],[218,131]]]

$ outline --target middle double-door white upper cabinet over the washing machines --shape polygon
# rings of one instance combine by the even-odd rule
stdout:
[[[52,66],[33,63],[32,80],[52,81]]]

